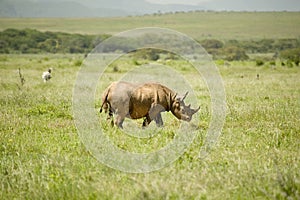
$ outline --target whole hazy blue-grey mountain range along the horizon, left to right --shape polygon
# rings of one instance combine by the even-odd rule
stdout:
[[[299,11],[299,0],[210,0],[162,5],[146,0],[0,0],[0,17],[111,17],[190,10]]]

